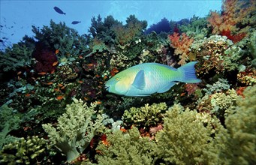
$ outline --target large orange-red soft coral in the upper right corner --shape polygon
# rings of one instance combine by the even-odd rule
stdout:
[[[208,19],[212,34],[227,36],[233,42],[242,40],[248,26],[254,25],[255,1],[224,0],[222,13],[212,11]]]

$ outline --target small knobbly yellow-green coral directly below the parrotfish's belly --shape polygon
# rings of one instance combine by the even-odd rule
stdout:
[[[145,104],[144,107],[131,107],[130,110],[125,110],[122,118],[126,124],[136,124],[138,127],[149,127],[157,125],[161,121],[161,118],[163,118],[163,113],[166,110],[166,103],[152,104],[151,106]]]

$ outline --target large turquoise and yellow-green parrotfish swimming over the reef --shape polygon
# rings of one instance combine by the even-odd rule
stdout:
[[[125,96],[149,96],[167,92],[177,82],[200,83],[194,65],[189,62],[179,68],[158,63],[135,65],[119,72],[107,81],[108,92]]]

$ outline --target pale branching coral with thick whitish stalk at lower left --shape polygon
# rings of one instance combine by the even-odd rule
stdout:
[[[88,107],[83,101],[74,99],[74,103],[67,105],[67,112],[58,118],[57,127],[43,124],[50,141],[66,155],[68,162],[79,157],[95,134],[103,129],[104,118],[99,114],[95,116],[96,106],[95,103]]]

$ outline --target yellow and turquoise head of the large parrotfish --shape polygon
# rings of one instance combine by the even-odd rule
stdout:
[[[129,77],[126,77],[125,74],[120,72],[107,81],[105,89],[110,93],[125,95],[130,89],[130,86],[131,81],[129,80]]]

